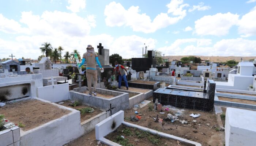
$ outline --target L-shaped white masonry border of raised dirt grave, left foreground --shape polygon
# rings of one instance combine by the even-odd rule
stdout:
[[[82,135],[79,111],[39,98],[35,99],[71,112],[31,130],[20,130],[20,146],[63,146]]]

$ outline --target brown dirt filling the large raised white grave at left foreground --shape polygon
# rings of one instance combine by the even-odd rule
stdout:
[[[22,123],[24,125],[23,131],[58,119],[70,112],[69,110],[35,99],[6,104],[0,108],[0,113],[4,114],[5,118],[10,122],[15,124]]]

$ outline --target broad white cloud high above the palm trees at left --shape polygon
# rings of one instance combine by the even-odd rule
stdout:
[[[84,36],[90,33],[91,27],[95,27],[93,15],[82,18],[75,13],[45,11],[41,16],[32,12],[22,12],[21,23],[28,26],[28,34],[50,35],[67,34],[71,36]]]

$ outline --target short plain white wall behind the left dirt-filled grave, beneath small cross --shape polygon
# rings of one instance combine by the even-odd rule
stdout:
[[[53,103],[69,99],[68,83],[37,88],[37,97]]]

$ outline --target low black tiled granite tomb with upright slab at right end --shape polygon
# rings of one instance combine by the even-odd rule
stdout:
[[[211,111],[214,107],[215,82],[208,80],[207,92],[195,92],[160,88],[153,92],[155,99],[163,105],[172,105],[178,108],[190,108],[202,111]]]

